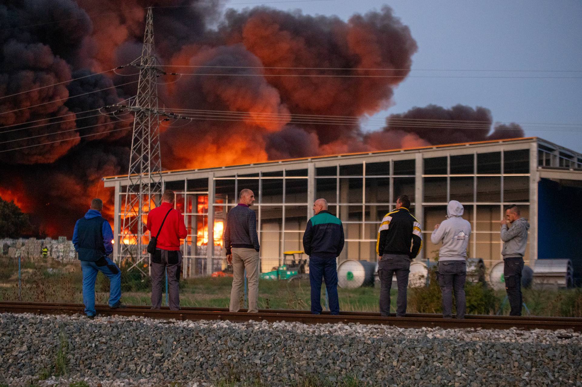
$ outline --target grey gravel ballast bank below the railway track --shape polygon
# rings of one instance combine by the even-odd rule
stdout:
[[[62,347],[68,372],[52,378]],[[0,385],[582,386],[581,374],[572,331],[0,314]]]

